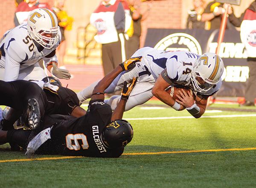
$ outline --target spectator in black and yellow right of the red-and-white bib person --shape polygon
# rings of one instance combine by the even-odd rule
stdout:
[[[145,12],[141,12],[140,0],[127,0],[130,14],[131,14],[131,27],[128,29],[127,34],[129,40],[127,41],[126,57],[131,57],[135,51],[140,48],[140,35],[141,35],[141,21],[145,20],[150,11],[150,4],[148,3],[148,9]]]

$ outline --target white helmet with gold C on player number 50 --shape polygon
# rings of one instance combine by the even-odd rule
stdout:
[[[27,30],[32,39],[47,49],[55,46],[59,40],[58,20],[49,9],[31,11],[28,17]]]

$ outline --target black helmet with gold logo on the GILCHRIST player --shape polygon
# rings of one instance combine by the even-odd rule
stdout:
[[[131,124],[126,120],[115,120],[108,124],[101,138],[104,145],[108,148],[120,148],[131,142],[133,129]]]

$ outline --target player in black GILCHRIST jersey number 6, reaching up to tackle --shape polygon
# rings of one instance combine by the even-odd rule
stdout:
[[[0,131],[0,143],[15,142],[26,148],[27,154],[61,154],[88,157],[119,157],[132,137],[133,130],[122,115],[126,101],[137,78],[130,85],[124,83],[122,97],[115,111],[103,102],[104,90],[121,71],[129,71],[134,64],[121,66],[106,75],[93,90],[87,113],[79,118],[67,115],[45,115],[42,131],[29,140],[31,131]]]

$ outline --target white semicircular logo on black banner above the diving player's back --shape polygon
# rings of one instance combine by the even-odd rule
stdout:
[[[202,49],[198,41],[186,33],[174,33],[160,40],[154,47],[164,51],[191,51],[201,55]]]

